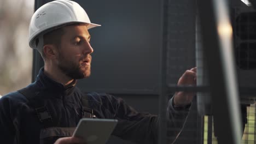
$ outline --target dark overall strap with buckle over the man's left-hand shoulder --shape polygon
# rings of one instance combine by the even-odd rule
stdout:
[[[50,127],[53,119],[43,101],[37,99],[39,98],[40,89],[36,87],[25,87],[18,90],[18,92],[27,98],[28,104],[36,111],[39,121],[43,123],[44,127]]]

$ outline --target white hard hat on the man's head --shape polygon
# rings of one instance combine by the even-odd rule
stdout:
[[[85,10],[76,2],[68,0],[49,2],[37,9],[31,18],[29,27],[30,47],[37,49],[36,39],[42,32],[48,32],[53,28],[69,23],[88,23],[88,29],[101,26],[91,23]]]

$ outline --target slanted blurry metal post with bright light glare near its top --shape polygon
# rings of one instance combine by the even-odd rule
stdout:
[[[219,144],[241,143],[241,112],[232,56],[228,2],[197,1],[213,104],[214,131]]]

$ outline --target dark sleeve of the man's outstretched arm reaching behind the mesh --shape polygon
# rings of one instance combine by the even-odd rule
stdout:
[[[167,125],[172,131],[171,133],[170,131],[167,132],[171,134],[170,141],[172,141],[173,137],[176,137],[182,129],[188,110],[175,110],[170,101],[167,107]],[[112,135],[135,143],[158,142],[158,117],[156,115],[137,112],[123,99],[115,98],[109,94],[105,95],[102,104],[104,109],[113,113],[112,118],[119,121]]]

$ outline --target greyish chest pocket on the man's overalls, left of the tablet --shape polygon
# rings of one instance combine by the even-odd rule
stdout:
[[[73,128],[61,128],[51,127],[45,128],[40,131],[40,144],[52,144],[61,137],[72,136],[75,127]]]

